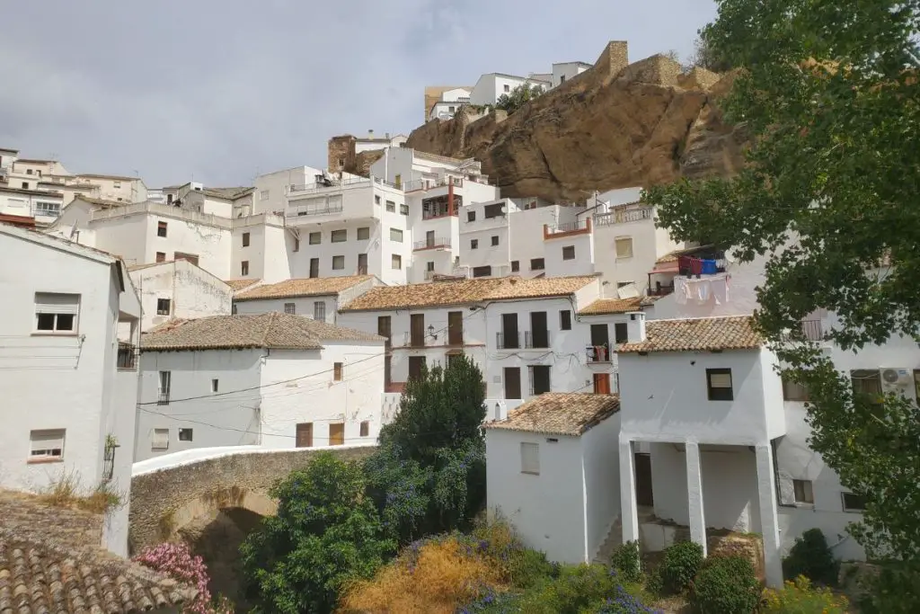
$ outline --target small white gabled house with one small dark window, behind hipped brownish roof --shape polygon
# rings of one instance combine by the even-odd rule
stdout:
[[[141,295],[146,331],[168,319],[229,315],[233,289],[190,261],[164,261],[128,267]]]

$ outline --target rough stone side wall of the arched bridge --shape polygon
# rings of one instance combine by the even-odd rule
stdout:
[[[159,543],[164,533],[175,530],[176,516],[187,504],[226,499],[225,506],[233,507],[234,500],[244,493],[267,493],[275,481],[306,467],[317,451],[241,452],[135,475],[131,496],[132,552]],[[343,460],[360,460],[372,454],[374,446],[332,451]]]

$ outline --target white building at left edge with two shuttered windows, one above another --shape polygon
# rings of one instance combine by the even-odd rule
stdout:
[[[0,486],[109,485],[125,504],[107,515],[103,545],[125,556],[141,317],[131,279],[108,253],[15,226],[0,225],[0,249],[17,263],[0,279]]]

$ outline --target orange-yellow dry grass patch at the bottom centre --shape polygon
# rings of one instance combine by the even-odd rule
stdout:
[[[372,580],[351,585],[339,612],[367,614],[454,614],[484,585],[500,584],[489,560],[468,554],[454,538],[405,553]]]

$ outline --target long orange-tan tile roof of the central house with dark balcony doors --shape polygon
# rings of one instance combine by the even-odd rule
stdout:
[[[372,288],[355,298],[346,307],[341,307],[340,310],[368,311],[444,307],[543,296],[567,296],[596,282],[597,277],[594,276],[545,277],[542,279],[500,277],[432,282],[431,284],[386,285]]]

